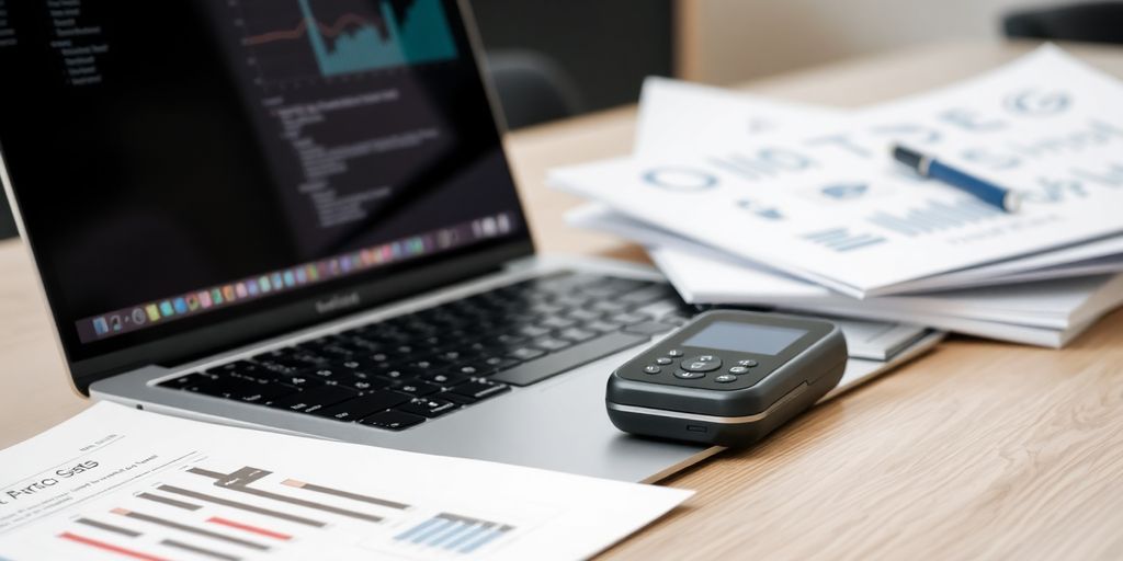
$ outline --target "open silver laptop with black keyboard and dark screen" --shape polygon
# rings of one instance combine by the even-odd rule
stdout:
[[[620,480],[716,451],[609,422],[691,310],[535,255],[460,3],[3,8],[0,172],[77,392]]]

